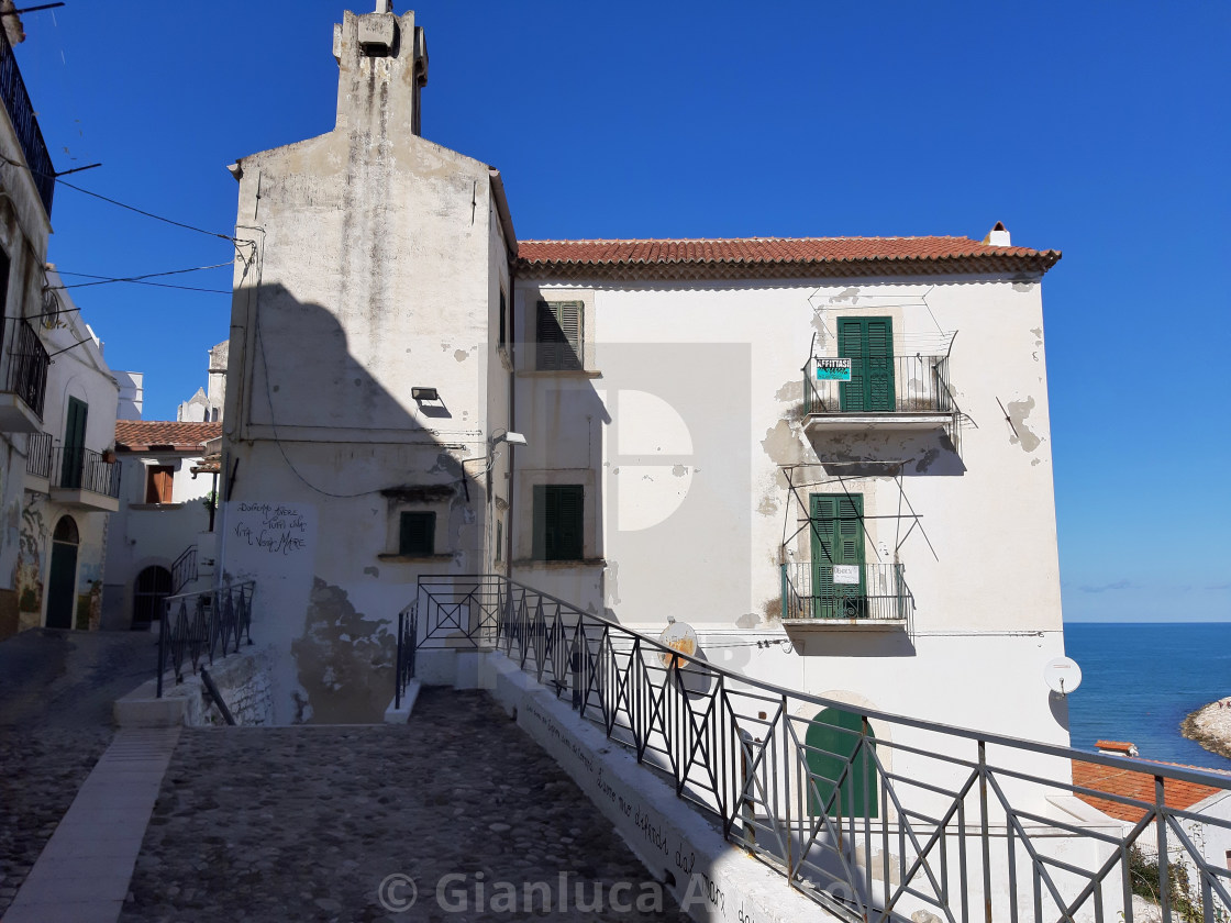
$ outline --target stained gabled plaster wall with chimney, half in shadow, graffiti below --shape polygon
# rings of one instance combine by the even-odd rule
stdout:
[[[256,246],[235,276],[220,556],[257,580],[279,724],[380,721],[416,578],[492,566],[506,245],[487,166],[414,134],[414,14],[398,23],[395,53],[368,58],[347,14],[337,127],[240,161],[236,234]],[[244,503],[303,519],[293,565],[260,538],[283,529],[254,528]],[[433,556],[399,554],[406,511],[436,513]]]

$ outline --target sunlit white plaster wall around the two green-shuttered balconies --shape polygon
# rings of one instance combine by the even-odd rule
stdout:
[[[996,727],[1004,714],[1020,715],[1014,733],[1067,741],[1066,717],[1062,709],[1053,710],[1041,678],[1044,663],[1062,653],[1064,640],[1037,282],[521,282],[522,335],[539,299],[586,300],[593,363],[587,359],[585,375],[519,367],[518,426],[532,449],[549,447],[550,458],[538,459],[540,476],[565,482],[588,477],[596,485],[597,496],[587,496],[587,514],[591,502],[596,508],[593,524],[586,522],[587,533],[595,530],[592,549],[587,545],[595,562],[518,565],[517,578],[558,592],[554,587],[570,581],[585,591],[602,575],[614,582],[603,603],[620,621],[657,634],[667,615],[686,620],[698,629],[703,653],[751,676],[814,693],[862,690],[879,708],[959,725]],[[895,356],[943,354],[947,335],[958,331],[950,385],[977,423],[963,427],[960,455],[938,431],[804,434],[800,369],[814,334],[816,354],[836,354],[842,316],[891,318]],[[732,347],[744,351],[742,358]],[[625,358],[638,351],[640,362]],[[691,391],[675,391],[668,400],[692,443],[676,453],[691,457],[670,459],[689,471],[687,496],[677,501],[643,491],[614,497],[612,484],[630,464],[652,468],[672,454],[659,450],[660,437],[671,432],[661,415],[612,400],[629,389],[657,389],[664,364],[692,382]],[[726,399],[730,380],[746,383],[751,404]],[[618,442],[632,452],[620,452]],[[625,458],[618,474],[617,455]],[[739,465],[723,466],[732,457],[747,465],[742,477]],[[916,528],[900,548],[916,602],[913,634],[824,629],[796,636],[798,652],[792,652],[777,621],[779,546],[806,512],[787,489],[784,466],[875,459],[906,463],[892,470],[900,470],[926,529],[926,539]],[[531,477],[521,458],[518,464],[519,479]],[[671,470],[662,480],[670,480]],[[884,466],[814,466],[794,476],[796,482],[815,481],[838,473],[859,476],[848,490],[863,493],[867,517],[897,514],[900,491]],[[710,514],[686,514],[700,491]],[[801,490],[805,503],[811,491],[841,487]],[[524,518],[531,505],[524,486],[519,502]],[[633,508],[620,509],[620,502]],[[622,521],[646,518],[641,514],[648,511],[661,522],[620,527]],[[675,528],[681,523],[673,517],[687,527]],[[911,522],[869,518],[869,549],[891,561]],[[806,537],[788,546],[798,560],[808,556]],[[868,560],[876,560],[872,550]],[[592,604],[591,597],[581,601]],[[771,644],[757,647],[757,640]],[[965,676],[981,684],[979,695],[970,694]]]

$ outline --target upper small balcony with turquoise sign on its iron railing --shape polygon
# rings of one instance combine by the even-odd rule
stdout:
[[[943,430],[958,406],[947,356],[819,357],[804,366],[804,432]]]

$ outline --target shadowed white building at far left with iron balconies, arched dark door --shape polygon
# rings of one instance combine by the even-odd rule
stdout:
[[[11,7],[11,4],[10,4]],[[102,343],[47,266],[54,167],[0,30],[0,637],[95,628],[117,385]]]

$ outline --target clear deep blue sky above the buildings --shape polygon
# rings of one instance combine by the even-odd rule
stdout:
[[[332,127],[343,9],[69,0],[25,17],[17,54],[57,169],[103,164],[70,181],[229,233],[227,164]],[[1003,220],[1064,250],[1044,305],[1066,618],[1231,619],[1231,5],[417,14],[423,134],[503,172],[521,238],[981,238]],[[53,225],[73,272],[231,257],[63,187]],[[166,281],[229,289],[230,271]],[[74,297],[112,367],[145,372],[148,418],[174,417],[228,334],[225,294]]]

